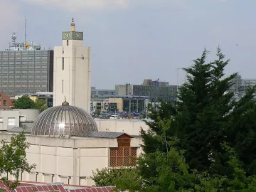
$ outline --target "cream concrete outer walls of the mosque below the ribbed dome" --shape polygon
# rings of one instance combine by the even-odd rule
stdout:
[[[9,140],[11,134],[0,134]],[[27,150],[29,164],[36,164],[31,173],[24,173],[23,181],[64,182],[92,186],[92,171],[109,166],[110,147],[117,147],[117,139],[53,138],[27,136],[31,147]],[[142,139],[133,138],[132,147],[141,154]],[[21,179],[21,178],[20,178]]]

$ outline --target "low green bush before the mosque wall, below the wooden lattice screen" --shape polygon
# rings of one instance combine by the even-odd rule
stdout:
[[[137,169],[97,169],[92,173],[96,186],[117,186],[121,191],[137,191],[142,180]]]

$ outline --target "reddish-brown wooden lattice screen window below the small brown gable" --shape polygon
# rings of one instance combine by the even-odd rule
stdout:
[[[137,147],[110,148],[110,167],[133,166],[136,158]]]

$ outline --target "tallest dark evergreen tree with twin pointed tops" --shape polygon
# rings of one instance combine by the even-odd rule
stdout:
[[[191,169],[208,171],[213,163],[213,155],[220,152],[225,139],[227,114],[233,108],[232,86],[235,75],[223,78],[224,68],[229,60],[217,49],[217,60],[206,63],[207,51],[194,60],[191,68],[185,68],[187,82],[183,84],[177,104],[178,115],[176,136],[181,139],[186,160]]]

